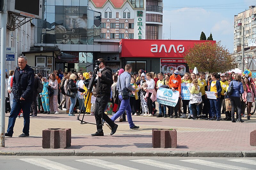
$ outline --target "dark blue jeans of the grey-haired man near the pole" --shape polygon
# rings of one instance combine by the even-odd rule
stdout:
[[[8,129],[7,133],[12,135],[13,134],[13,127],[16,121],[17,116],[20,113],[20,109],[23,111],[23,117],[24,117],[24,127],[22,132],[26,135],[29,134],[29,123],[30,123],[30,106],[31,106],[32,100],[15,100],[13,99],[12,109],[9,116],[8,121]]]

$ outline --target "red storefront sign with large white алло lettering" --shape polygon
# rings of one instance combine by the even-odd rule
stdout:
[[[120,57],[183,58],[189,47],[202,40],[132,40],[123,39]],[[216,43],[216,41],[212,41]]]

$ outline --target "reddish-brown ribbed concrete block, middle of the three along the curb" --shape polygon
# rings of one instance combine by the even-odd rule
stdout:
[[[177,131],[175,129],[152,129],[153,148],[177,148]]]

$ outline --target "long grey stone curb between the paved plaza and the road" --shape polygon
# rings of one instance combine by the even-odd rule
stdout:
[[[256,157],[256,151],[1,151],[1,156]]]

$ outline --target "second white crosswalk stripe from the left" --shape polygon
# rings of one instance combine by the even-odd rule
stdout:
[[[105,168],[105,169],[110,169],[110,170],[116,170],[116,169],[117,170],[127,170],[127,169],[129,169],[129,170],[138,170],[138,169],[135,169],[135,168],[115,164],[115,163],[100,160],[100,159],[79,159],[79,160],[76,160],[76,161],[83,162],[83,163],[90,164],[90,165],[94,165],[94,166],[98,166],[98,167]]]

